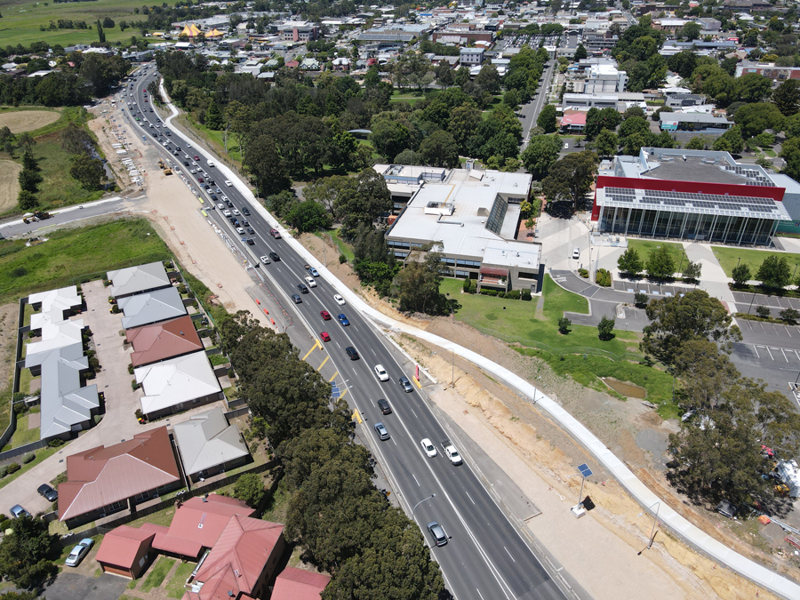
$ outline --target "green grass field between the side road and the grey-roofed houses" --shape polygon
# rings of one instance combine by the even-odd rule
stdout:
[[[53,231],[44,244],[0,241],[0,301],[76,283],[83,276],[131,267],[171,254],[147,220],[116,220],[102,225]],[[85,281],[85,280],[84,280]]]

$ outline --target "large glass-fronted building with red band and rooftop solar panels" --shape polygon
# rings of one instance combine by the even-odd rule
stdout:
[[[727,152],[642,148],[597,177],[592,220],[601,232],[722,244],[768,244],[800,216],[800,185],[739,164]]]

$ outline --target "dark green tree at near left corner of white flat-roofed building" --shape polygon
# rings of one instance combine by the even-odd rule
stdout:
[[[397,274],[393,285],[400,299],[400,310],[430,315],[442,311],[444,296],[439,292],[439,284],[447,274],[442,250],[441,243],[426,244],[422,248],[426,252],[424,260],[409,260]]]

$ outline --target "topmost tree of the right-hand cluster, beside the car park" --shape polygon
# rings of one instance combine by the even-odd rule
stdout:
[[[651,324],[644,328],[640,348],[664,364],[673,364],[689,340],[710,340],[726,352],[730,342],[741,340],[739,327],[732,325],[722,302],[703,290],[650,300],[646,312]]]

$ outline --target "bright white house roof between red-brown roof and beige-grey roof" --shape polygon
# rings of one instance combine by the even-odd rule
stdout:
[[[145,414],[222,391],[204,352],[140,366],[133,375],[144,389],[140,402]]]

